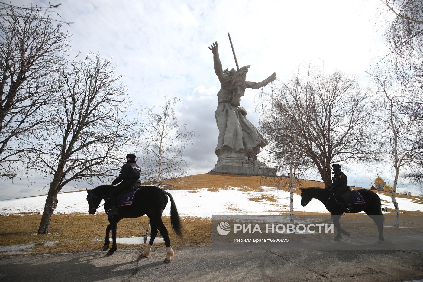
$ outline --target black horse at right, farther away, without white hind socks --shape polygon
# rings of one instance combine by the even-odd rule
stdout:
[[[381,203],[379,195],[368,189],[358,189],[357,191],[360,192],[365,203],[352,205],[353,208],[349,213],[360,213],[361,211],[367,213],[367,215],[370,216],[370,218],[376,223],[377,229],[379,230],[379,239],[377,242],[382,243],[384,241],[382,229],[384,216],[382,215],[382,210],[380,209]],[[333,192],[328,188],[301,188],[301,205],[303,207],[305,207],[313,198],[322,202],[326,209],[332,214],[333,225],[338,231],[338,234],[335,238],[333,238],[333,240],[339,241],[339,239],[342,238],[341,233],[350,237],[351,235],[349,232],[342,229],[339,225],[339,219],[344,211],[341,204],[336,202]]]

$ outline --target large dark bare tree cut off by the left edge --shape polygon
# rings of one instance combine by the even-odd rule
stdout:
[[[55,72],[66,63],[69,35],[36,11],[5,11],[0,21],[0,177],[12,178],[28,144],[48,122]],[[29,161],[29,162],[28,162]]]

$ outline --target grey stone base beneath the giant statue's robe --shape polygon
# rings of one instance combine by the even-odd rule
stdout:
[[[262,176],[276,176],[276,169],[261,161],[248,158],[243,154],[221,155],[211,173],[252,174]]]

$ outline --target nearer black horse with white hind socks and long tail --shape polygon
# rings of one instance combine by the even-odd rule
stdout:
[[[110,209],[110,203],[107,199],[109,197],[110,188],[112,187],[112,185],[101,185],[91,190],[87,189],[88,213],[96,213],[102,199],[105,201],[104,211],[107,212]],[[141,253],[141,257],[150,256],[151,246],[153,245],[158,229],[165,240],[166,245],[167,255],[164,262],[169,263],[175,254],[170,246],[168,229],[162,221],[162,213],[168,203],[168,197],[166,195],[170,198],[170,223],[172,224],[173,232],[181,237],[181,221],[179,220],[178,210],[175,202],[173,201],[172,195],[156,186],[144,186],[135,193],[132,205],[118,207],[118,215],[113,217],[107,216],[110,224],[106,228],[106,238],[104,238],[103,251],[109,249],[110,229],[112,229],[113,244],[112,248],[109,252],[107,252],[107,255],[112,255],[116,251],[116,227],[122,218],[137,218],[146,214],[151,220],[151,238],[147,248]]]

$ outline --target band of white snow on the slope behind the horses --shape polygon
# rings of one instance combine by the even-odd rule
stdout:
[[[167,190],[172,194],[181,216],[210,218],[211,215],[231,214],[277,214],[289,210],[289,192],[273,187],[261,187],[263,191],[243,191],[244,187],[226,187],[218,191],[208,189],[198,190]],[[245,190],[245,189],[244,189]],[[390,202],[390,197],[378,193],[382,200]],[[0,201],[0,215],[15,213],[41,214],[47,196],[11,199]],[[71,192],[58,194],[58,205],[55,213],[87,213],[87,192]],[[255,198],[257,201],[250,200]],[[274,201],[272,201],[274,199]],[[401,210],[421,210],[423,204],[410,199],[397,198]],[[323,203],[313,199],[306,207],[302,207],[301,196],[294,194],[294,210],[301,212],[327,212]],[[170,203],[163,215],[169,216]],[[392,207],[386,202],[382,206]],[[98,213],[103,212],[100,207]]]

